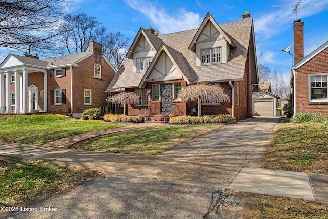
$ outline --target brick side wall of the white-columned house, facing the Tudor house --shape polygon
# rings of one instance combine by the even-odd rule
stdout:
[[[101,65],[101,79],[94,77],[94,64]],[[73,113],[82,113],[88,108],[107,106],[105,90],[115,75],[114,70],[101,53],[94,53],[78,65],[78,67],[73,67]],[[91,105],[84,104],[84,89],[91,90]]]

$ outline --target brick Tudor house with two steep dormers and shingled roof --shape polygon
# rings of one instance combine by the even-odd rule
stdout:
[[[186,115],[195,102],[182,102],[181,90],[197,83],[220,84],[231,99],[202,103],[202,114],[252,116],[252,91],[258,91],[253,19],[218,24],[208,13],[198,29],[154,35],[140,28],[106,92],[135,92],[140,102],[128,104],[128,115]],[[122,106],[116,106],[121,114]],[[198,112],[195,112],[197,114]]]

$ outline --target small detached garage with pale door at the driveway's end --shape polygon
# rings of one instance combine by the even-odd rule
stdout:
[[[276,116],[279,96],[260,90],[252,94],[253,116]]]

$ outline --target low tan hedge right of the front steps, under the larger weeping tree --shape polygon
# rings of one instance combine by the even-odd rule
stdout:
[[[191,124],[191,123],[227,123],[228,119],[231,118],[231,115],[204,115],[201,117],[197,116],[176,116],[170,118],[169,123],[175,124]]]

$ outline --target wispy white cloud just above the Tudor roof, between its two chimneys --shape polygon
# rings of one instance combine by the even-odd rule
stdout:
[[[126,0],[126,3],[147,16],[160,34],[198,28],[202,22],[198,13],[188,12],[185,8],[181,8],[178,12],[174,11],[175,15],[170,15],[146,0]]]

